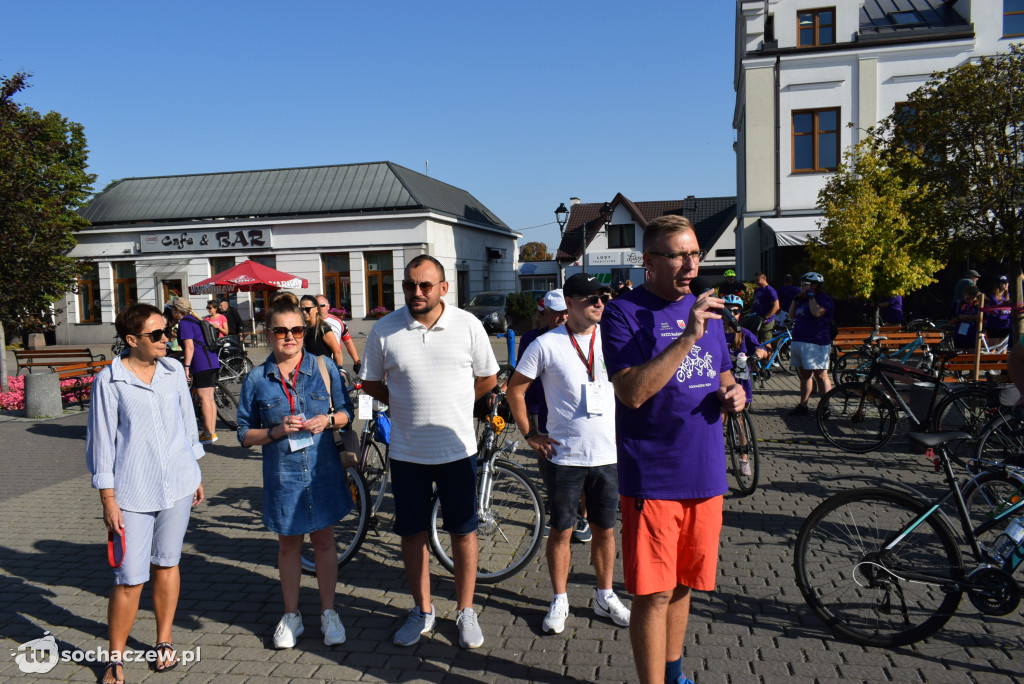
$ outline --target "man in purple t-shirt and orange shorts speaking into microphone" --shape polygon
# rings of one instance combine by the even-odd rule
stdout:
[[[724,300],[690,292],[703,255],[690,222],[654,219],[643,249],[647,282],[613,299],[601,319],[615,391],[623,569],[635,597],[630,641],[641,682],[689,682],[690,590],[715,587],[728,489],[721,413],[742,410],[745,395],[717,313]]]

